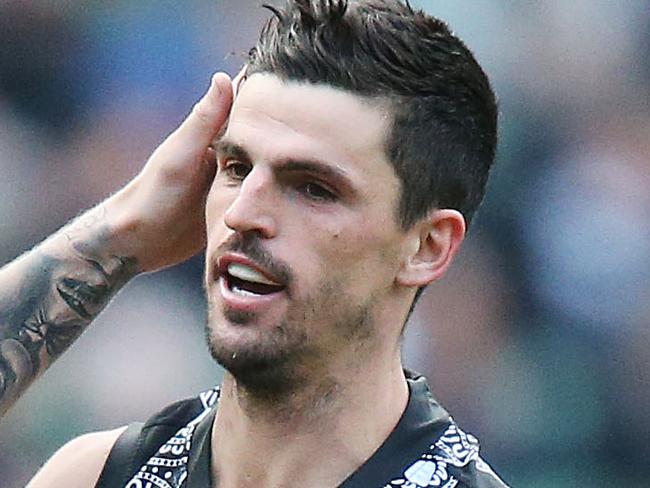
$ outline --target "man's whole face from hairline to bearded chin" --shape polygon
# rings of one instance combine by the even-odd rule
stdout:
[[[379,310],[404,239],[389,123],[334,88],[261,74],[242,85],[217,147],[205,277],[210,348],[242,382],[353,362],[388,332]]]

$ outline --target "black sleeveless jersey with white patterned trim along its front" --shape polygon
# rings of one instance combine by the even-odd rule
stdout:
[[[507,488],[434,400],[426,380],[407,372],[409,401],[378,450],[340,488]],[[113,447],[96,488],[209,488],[218,388],[132,424]],[[218,440],[216,441],[218,442]]]

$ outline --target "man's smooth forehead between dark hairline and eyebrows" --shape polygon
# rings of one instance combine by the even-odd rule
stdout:
[[[226,137],[255,159],[315,158],[394,177],[385,150],[389,126],[387,103],[254,74],[241,85]]]

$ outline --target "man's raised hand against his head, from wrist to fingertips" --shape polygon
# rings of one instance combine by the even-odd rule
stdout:
[[[174,265],[205,245],[205,197],[216,171],[211,143],[228,119],[233,84],[225,73],[147,164],[106,205],[115,231],[137,256],[140,271]]]

